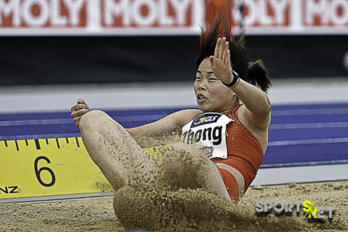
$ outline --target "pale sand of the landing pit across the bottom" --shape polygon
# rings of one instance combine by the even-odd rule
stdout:
[[[154,213],[152,211],[152,215],[149,216],[148,210],[154,207],[151,206],[151,202],[148,204],[150,208],[141,207],[143,212],[134,212],[134,215],[141,213],[143,214],[142,219],[146,215],[146,222],[150,222],[148,217],[152,218],[152,224],[147,226],[166,227],[153,231],[173,231],[173,228],[176,231],[348,231],[347,181],[255,186],[249,188],[237,206],[215,209],[209,208],[212,204],[203,207],[203,204],[212,199],[213,194],[209,195],[202,190],[189,191],[191,192],[184,191],[180,194],[171,192],[166,196],[162,194],[160,197],[152,197],[152,199],[158,203],[161,197],[164,199],[167,197],[173,202],[175,199],[182,200],[189,197],[189,193],[198,194],[203,198],[194,202],[194,205],[186,205],[184,212],[185,215],[193,215],[192,217],[183,217],[182,214],[177,214],[180,210],[174,207],[175,204],[166,206],[164,203],[166,201],[162,201],[164,206],[159,207],[163,210],[164,215],[159,215],[161,212]],[[129,192],[129,190],[125,192]],[[121,193],[119,192],[119,194]],[[139,192],[134,192],[134,194],[139,194]],[[292,215],[292,217],[276,216],[273,213],[258,216],[255,214],[255,201],[265,199],[270,201],[309,199],[317,201],[317,206],[333,206],[335,212],[331,222],[327,219],[324,222],[308,222],[308,219],[296,215]],[[187,201],[186,204],[192,202]],[[127,206],[127,202],[122,204]],[[178,205],[182,206],[182,201],[176,206]],[[213,205],[219,206],[219,204]],[[136,207],[139,208],[139,206]],[[170,212],[166,213],[166,209],[173,210],[171,213],[174,216],[166,217],[166,214],[171,214]],[[207,214],[204,214],[205,209],[208,209]],[[129,208],[125,212],[129,213]],[[211,216],[212,212],[213,215],[223,216],[223,219],[215,217],[214,219],[218,219],[220,222],[210,222],[207,216]],[[235,217],[232,217],[233,215]],[[159,220],[160,218],[162,219]],[[139,219],[139,224],[144,222],[141,221],[141,217]],[[199,219],[200,221],[198,221]],[[227,219],[229,220],[227,221]],[[125,231],[120,221],[125,222],[125,219],[116,218],[113,210],[113,196],[69,201],[0,204],[0,231]],[[127,221],[130,222],[130,220]],[[162,224],[159,224],[159,221]],[[127,224],[127,226],[132,226],[132,223]],[[214,226],[216,224],[219,226]]]

